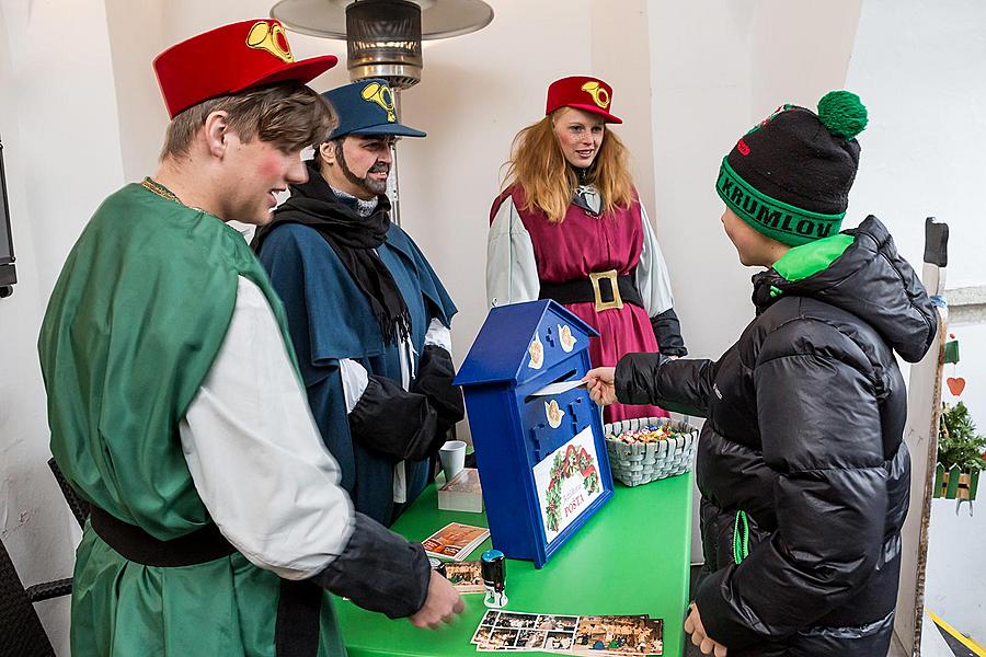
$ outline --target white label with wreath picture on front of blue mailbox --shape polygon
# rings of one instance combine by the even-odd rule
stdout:
[[[584,428],[535,465],[534,475],[550,543],[603,493],[593,428]]]

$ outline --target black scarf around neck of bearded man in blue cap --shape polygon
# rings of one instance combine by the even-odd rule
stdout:
[[[271,231],[282,223],[301,223],[319,231],[366,295],[386,343],[411,333],[411,314],[390,270],[374,251],[390,229],[390,199],[378,197],[369,217],[343,203],[309,160],[308,182],[291,185],[291,196],[274,210],[274,220],[257,229],[250,246],[260,253]]]

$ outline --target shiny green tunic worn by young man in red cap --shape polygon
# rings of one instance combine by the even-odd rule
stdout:
[[[179,423],[222,344],[238,276],[266,296],[294,361],[282,303],[243,238],[211,215],[127,185],[82,232],[42,325],[55,460],[84,498],[160,540],[210,522]],[[76,556],[74,657],[275,654],[280,579],[240,553],[145,566],[87,523]],[[328,593],[319,655],[345,655]]]

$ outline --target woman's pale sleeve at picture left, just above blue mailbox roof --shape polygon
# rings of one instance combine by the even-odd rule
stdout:
[[[530,233],[514,199],[496,210],[486,241],[486,302],[489,308],[534,301],[541,292]]]

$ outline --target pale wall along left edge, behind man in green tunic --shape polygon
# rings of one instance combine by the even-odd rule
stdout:
[[[26,585],[71,575],[79,535],[46,464],[35,344],[69,247],[122,182],[108,48],[102,2],[0,0],[0,136],[20,278],[0,300],[0,537]],[[68,654],[68,599],[37,610]]]

